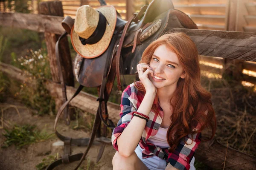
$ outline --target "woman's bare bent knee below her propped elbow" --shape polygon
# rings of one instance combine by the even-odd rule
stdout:
[[[135,152],[131,156],[124,157],[116,151],[112,159],[112,164],[113,170],[148,170]]]

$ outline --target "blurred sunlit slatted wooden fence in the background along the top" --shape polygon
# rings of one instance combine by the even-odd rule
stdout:
[[[28,0],[29,8],[38,13],[38,0]],[[42,0],[49,1],[49,0]],[[100,6],[98,0],[60,0],[63,5],[64,17],[75,17],[79,6]],[[105,0],[127,19],[133,12],[150,3],[151,0]],[[198,25],[199,29],[227,30],[227,31],[256,31],[256,0],[172,0],[174,7],[179,9]],[[0,2],[0,11],[15,11]],[[15,1],[13,1],[15,5]],[[229,22],[229,20],[232,20]]]

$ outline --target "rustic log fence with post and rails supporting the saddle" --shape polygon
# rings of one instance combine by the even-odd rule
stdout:
[[[52,6],[55,6],[55,8],[49,8],[47,3],[52,3]],[[55,61],[55,43],[59,34],[64,31],[61,26],[61,21],[64,19],[64,14],[62,10],[59,12],[61,8],[62,5],[60,1],[52,1],[42,2],[39,5],[38,11],[40,14],[0,13],[0,26],[44,32],[47,41],[47,50],[49,52],[51,72],[53,75],[53,79],[45,80],[44,85],[57,101],[58,99],[62,98],[61,85],[57,74],[59,70],[56,70],[58,67],[56,66]],[[192,30],[182,28],[177,28],[175,31],[184,32],[192,38],[198,47],[199,54],[201,54],[202,62],[212,62],[212,59],[207,56],[217,56],[256,62],[256,33],[225,32],[225,36],[223,36],[224,32],[222,31]],[[214,37],[212,35],[214,35]],[[238,38],[238,35],[242,38],[240,40],[233,40],[233,37]],[[211,43],[209,44],[209,42]],[[62,48],[68,48],[67,40],[62,42]],[[67,66],[71,67],[70,52],[66,51],[65,53],[67,56],[65,57],[66,59],[64,59],[64,65],[66,68]],[[223,64],[223,61],[224,59],[214,58],[213,63],[221,65]],[[254,69],[255,65],[250,62],[246,63],[244,68]],[[218,69],[221,68],[216,68],[216,70]],[[28,85],[34,83],[26,77],[20,76],[22,71],[11,65],[0,63],[0,71],[7,74],[9,77],[22,82],[27,81]],[[63,71],[64,75],[70,78],[65,80],[66,84],[70,84],[67,84],[67,98],[69,99],[76,90],[73,87],[73,80],[71,80],[73,75],[67,75],[67,72],[72,73],[72,70],[67,68],[61,71]],[[84,103],[86,103],[86,105],[84,105]],[[81,92],[75,99],[73,99],[70,105],[95,114],[98,107],[98,102],[96,102],[95,96]],[[119,105],[108,102],[108,113],[110,119],[117,123],[119,119]],[[225,167],[228,169],[253,169],[256,167],[255,157],[229,148],[227,150],[228,156],[226,158],[226,149],[226,146],[223,146],[217,142],[213,142],[212,144],[203,142],[198,148],[196,156],[199,160],[204,161],[204,163],[216,169],[221,168],[224,161],[226,162]]]

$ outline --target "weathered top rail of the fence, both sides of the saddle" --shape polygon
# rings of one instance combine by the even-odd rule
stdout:
[[[34,17],[34,18],[33,18]],[[0,26],[61,34],[63,17],[39,14],[0,13]],[[188,34],[200,55],[256,62],[256,32],[172,29]]]

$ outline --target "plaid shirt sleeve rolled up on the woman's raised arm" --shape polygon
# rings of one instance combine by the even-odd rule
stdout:
[[[117,145],[117,137],[122,134],[125,128],[128,126],[129,122],[133,117],[132,113],[137,111],[137,108],[134,107],[134,100],[136,100],[136,94],[131,90],[131,87],[128,86],[123,92],[121,96],[121,111],[119,116],[121,119],[118,121],[117,126],[113,129],[111,142],[114,147],[118,151]]]

